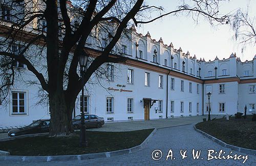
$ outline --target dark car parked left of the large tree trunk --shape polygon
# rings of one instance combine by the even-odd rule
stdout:
[[[15,128],[8,131],[9,136],[18,136],[25,134],[35,134],[49,132],[50,119],[36,120],[26,127]]]

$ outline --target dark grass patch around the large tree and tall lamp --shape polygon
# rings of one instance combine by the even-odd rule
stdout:
[[[11,155],[75,155],[109,152],[140,145],[154,129],[127,132],[87,131],[89,147],[79,146],[79,133],[65,137],[27,137],[0,142],[0,149]]]

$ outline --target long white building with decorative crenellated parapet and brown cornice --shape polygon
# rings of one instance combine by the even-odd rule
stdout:
[[[131,39],[121,42],[122,64],[106,64],[109,76],[100,84],[87,84],[84,108],[88,114],[106,121],[150,120],[208,114],[207,93],[211,92],[210,110],[214,115],[255,113],[256,56],[241,62],[236,54],[228,59],[205,62],[165,45],[150,34],[138,34],[131,27]],[[99,46],[88,41],[90,51]],[[17,67],[19,67],[17,65]],[[22,66],[24,79],[36,79]],[[98,82],[94,77],[90,82]],[[49,106],[36,105],[38,86],[16,80],[9,102],[0,106],[0,127],[27,125],[36,119],[50,118]],[[80,96],[74,116],[80,114]]]

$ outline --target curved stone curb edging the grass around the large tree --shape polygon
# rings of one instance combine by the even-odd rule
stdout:
[[[130,148],[117,150],[112,152],[103,152],[103,153],[91,153],[91,154],[82,154],[82,155],[61,155],[61,156],[12,156],[12,155],[0,155],[0,160],[14,160],[14,161],[69,161],[69,160],[84,160],[84,159],[93,159],[93,158],[104,158],[104,157],[112,157],[123,154],[130,154],[136,151],[139,151],[146,147],[147,142],[151,139],[151,137],[155,134],[157,129],[154,129],[150,135],[138,146]],[[48,133],[44,133],[48,134]],[[35,134],[31,134],[35,135]],[[25,136],[25,135],[23,135]],[[18,137],[18,136],[17,136]],[[20,139],[21,137],[19,137]],[[10,139],[10,138],[9,138]],[[11,137],[11,139],[16,139],[15,137]],[[2,139],[4,140],[4,139]],[[0,140],[0,141],[2,141]],[[7,141],[7,140],[6,140]],[[1,151],[0,151],[1,152]],[[7,152],[9,153],[9,152]]]

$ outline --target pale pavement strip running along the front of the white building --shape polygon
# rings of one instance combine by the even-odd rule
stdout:
[[[223,116],[214,116],[211,118],[222,118]],[[206,116],[193,116],[193,117],[184,117],[184,118],[169,118],[169,119],[157,119],[150,121],[129,121],[129,122],[113,122],[105,123],[101,128],[92,128],[88,129],[91,131],[133,131],[133,130],[142,130],[150,128],[166,128],[174,127],[186,124],[193,124],[202,122],[203,118],[208,119]]]

